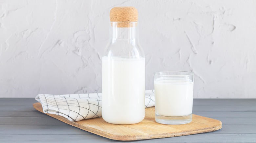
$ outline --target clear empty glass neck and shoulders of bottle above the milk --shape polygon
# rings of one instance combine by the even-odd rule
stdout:
[[[111,22],[109,28],[109,43],[104,56],[122,58],[145,57],[139,45],[137,22]]]

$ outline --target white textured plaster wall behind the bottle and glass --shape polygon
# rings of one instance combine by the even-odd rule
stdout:
[[[256,98],[256,1],[0,0],[0,97],[101,92],[109,11],[139,11],[146,89],[195,73],[194,98]]]

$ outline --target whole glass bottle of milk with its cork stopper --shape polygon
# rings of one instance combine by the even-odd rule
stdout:
[[[135,124],[145,117],[145,56],[138,41],[138,11],[110,10],[109,43],[102,57],[102,117]]]

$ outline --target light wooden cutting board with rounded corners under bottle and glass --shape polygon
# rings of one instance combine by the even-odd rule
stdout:
[[[33,107],[43,113],[40,103],[34,103]],[[155,107],[146,108],[145,119],[140,123],[132,125],[110,124],[104,121],[102,117],[71,122],[62,116],[54,114],[47,115],[96,135],[123,141],[192,135],[216,131],[222,127],[222,122],[219,120],[194,114],[192,116],[192,122],[188,124],[160,124],[155,121]]]

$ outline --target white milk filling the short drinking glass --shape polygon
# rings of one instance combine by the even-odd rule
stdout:
[[[156,114],[168,117],[192,113],[193,82],[183,79],[158,80],[155,86]]]

